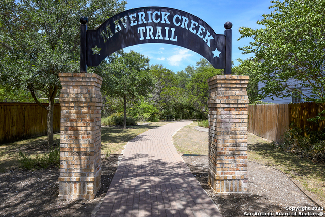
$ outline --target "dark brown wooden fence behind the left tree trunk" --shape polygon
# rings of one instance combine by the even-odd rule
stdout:
[[[60,104],[55,104],[54,132],[60,132],[60,113]],[[46,134],[47,110],[42,106],[36,103],[0,103],[0,144]]]

